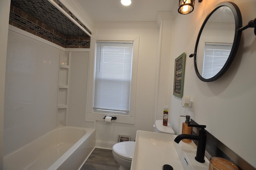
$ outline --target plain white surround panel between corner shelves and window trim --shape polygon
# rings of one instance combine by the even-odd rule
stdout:
[[[89,56],[90,52],[71,52],[70,55],[68,126],[89,127],[85,122]]]

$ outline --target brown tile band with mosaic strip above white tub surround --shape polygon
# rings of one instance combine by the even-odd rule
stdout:
[[[58,10],[57,8],[55,9]],[[45,40],[53,42],[54,44],[64,48],[90,48],[90,36],[83,32],[78,26],[77,27],[80,30],[74,30],[74,27],[71,29],[70,25],[66,22],[64,24],[61,23],[62,19],[63,18],[59,16],[58,21],[60,22],[55,23],[56,25],[59,25],[58,28],[62,28],[60,32],[58,31],[58,28],[58,30],[56,28],[52,28],[45,22],[42,22],[38,18],[24,12],[13,4],[11,4],[10,7],[10,25],[30,32],[31,34],[44,38]]]

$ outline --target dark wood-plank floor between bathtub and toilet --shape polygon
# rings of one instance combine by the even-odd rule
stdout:
[[[112,150],[95,148],[80,170],[118,170]]]

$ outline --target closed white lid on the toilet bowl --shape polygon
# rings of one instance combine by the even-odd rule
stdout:
[[[118,154],[120,157],[132,160],[134,145],[135,142],[133,141],[119,142],[117,144],[114,144],[112,149],[113,152]]]

